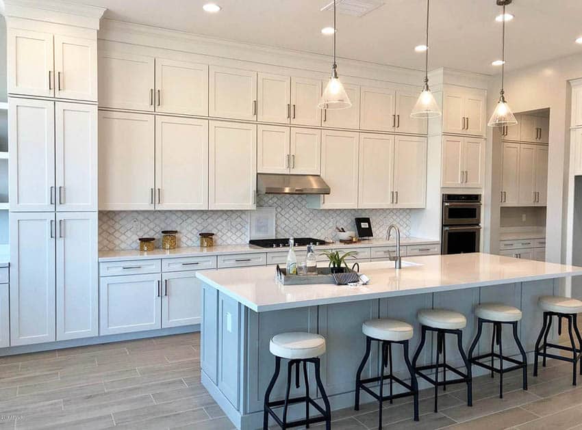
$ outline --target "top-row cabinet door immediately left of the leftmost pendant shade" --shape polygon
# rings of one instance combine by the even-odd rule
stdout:
[[[321,81],[309,78],[291,78],[291,124],[321,125]]]

